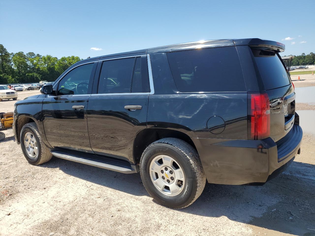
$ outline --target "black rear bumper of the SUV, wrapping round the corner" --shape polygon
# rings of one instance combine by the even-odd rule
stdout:
[[[299,152],[302,129],[293,125],[277,143],[272,138],[192,138],[209,183],[263,184],[284,171]]]

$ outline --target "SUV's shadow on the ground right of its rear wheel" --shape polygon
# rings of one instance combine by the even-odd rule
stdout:
[[[294,235],[315,235],[315,166],[293,162],[263,186],[207,184],[190,207],[178,211],[220,217]],[[258,234],[258,232],[256,232]]]

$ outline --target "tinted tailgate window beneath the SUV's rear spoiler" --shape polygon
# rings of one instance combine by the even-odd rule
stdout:
[[[278,54],[255,49],[252,49],[252,52],[266,90],[283,87],[291,83]]]

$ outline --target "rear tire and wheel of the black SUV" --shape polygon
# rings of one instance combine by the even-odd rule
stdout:
[[[167,159],[171,161],[168,162]],[[171,165],[167,165],[167,163],[171,163]],[[168,168],[165,169],[164,166],[168,166]],[[160,167],[160,172],[157,173]],[[166,174],[165,171],[168,173]],[[180,172],[184,176],[183,181],[179,180],[179,176],[182,176],[179,174]],[[174,174],[173,180],[170,177],[171,174]],[[140,175],[144,187],[157,202],[178,209],[191,205],[200,196],[206,183],[206,176],[196,149],[178,138],[162,138],[151,143],[141,156]],[[168,185],[165,180],[173,181],[173,183]],[[158,189],[157,184],[154,184],[153,181],[160,181],[162,183],[160,185],[165,186]],[[177,183],[175,183],[176,181]],[[177,185],[175,188],[174,183]],[[182,185],[180,185],[181,183]],[[178,192],[174,194],[170,191],[170,187]]]

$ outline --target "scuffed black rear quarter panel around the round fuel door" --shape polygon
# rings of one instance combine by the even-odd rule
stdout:
[[[225,129],[211,133],[207,121],[220,116]],[[150,95],[148,128],[169,128],[194,138],[247,139],[247,93]]]

